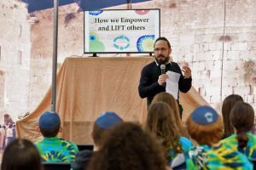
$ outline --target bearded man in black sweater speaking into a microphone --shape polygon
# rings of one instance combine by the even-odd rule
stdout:
[[[166,80],[169,78],[166,71],[172,71],[180,74],[178,80],[178,91],[186,93],[191,88],[191,70],[189,66],[183,66],[183,74],[180,67],[175,62],[171,62],[170,54],[172,48],[166,37],[159,37],[154,42],[154,61],[144,66],[140,84],[138,87],[141,98],[147,97],[147,103],[150,105],[155,94],[166,92]],[[178,102],[177,91],[177,103]],[[179,105],[179,111],[182,115],[183,108]]]

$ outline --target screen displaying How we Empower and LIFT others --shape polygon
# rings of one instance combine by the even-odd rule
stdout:
[[[153,53],[160,9],[84,11],[84,53]]]

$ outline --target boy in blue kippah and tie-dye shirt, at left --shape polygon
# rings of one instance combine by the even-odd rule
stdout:
[[[57,137],[61,130],[60,116],[55,112],[46,111],[39,118],[39,129],[44,139],[36,142],[43,161],[72,162],[79,152],[76,144]]]

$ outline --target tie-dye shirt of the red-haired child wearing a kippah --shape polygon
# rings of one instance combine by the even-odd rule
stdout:
[[[227,149],[222,144],[214,147],[208,145],[194,146],[184,156],[184,161],[174,160],[176,166],[172,165],[172,169],[253,170],[253,165],[246,156],[238,151]]]

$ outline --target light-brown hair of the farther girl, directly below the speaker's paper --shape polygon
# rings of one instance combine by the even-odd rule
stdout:
[[[168,94],[166,92],[161,92],[160,94],[156,94],[154,96],[154,99],[152,100],[151,104],[154,104],[154,103],[160,102],[160,101],[166,103],[167,105],[169,105],[171,107],[171,109],[173,111],[172,114],[175,116],[175,120],[176,120],[176,123],[177,123],[177,128],[178,128],[178,131],[180,132],[181,136],[189,137],[188,132],[183,127],[183,123],[182,123],[181,117],[179,115],[177,100],[174,99],[172,94]]]

